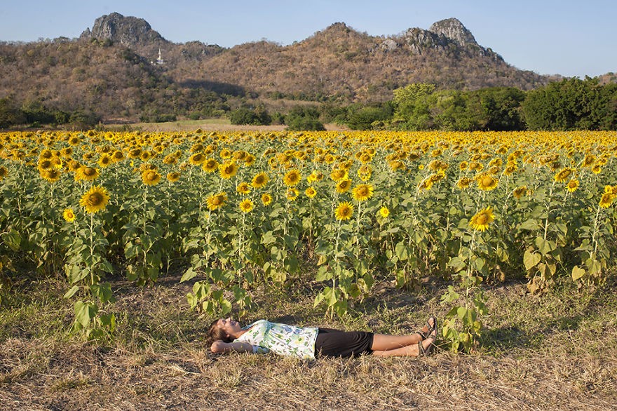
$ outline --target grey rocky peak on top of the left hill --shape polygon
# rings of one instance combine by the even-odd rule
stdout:
[[[81,34],[86,39],[109,39],[124,46],[147,45],[156,42],[167,42],[149,23],[136,17],[125,17],[120,13],[111,13],[97,18],[90,29]]]

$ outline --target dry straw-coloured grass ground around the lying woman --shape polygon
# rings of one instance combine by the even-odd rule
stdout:
[[[560,289],[532,297],[518,283],[491,288],[484,344],[473,355],[438,351],[421,359],[304,362],[210,353],[203,341],[210,318],[187,312],[190,285],[177,284],[177,278],[154,288],[115,286],[113,309],[123,313],[121,328],[113,342],[100,345],[58,331],[71,318],[65,302],[37,305],[36,288],[29,285],[15,292],[0,314],[0,409],[617,407],[617,297],[609,292]],[[53,301],[50,289],[45,292]],[[381,284],[362,311],[341,322],[313,310],[310,293],[293,285],[287,292],[262,290],[256,295],[259,309],[248,320],[413,332],[428,313],[445,314],[440,292],[427,287],[409,294]],[[29,297],[20,299],[20,293]],[[35,312],[43,319],[36,320]],[[55,332],[46,328],[50,318],[57,319]]]

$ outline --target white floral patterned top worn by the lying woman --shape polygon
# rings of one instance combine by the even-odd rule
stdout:
[[[255,321],[243,330],[236,341],[248,342],[254,353],[277,353],[281,356],[294,356],[304,360],[315,359],[315,340],[318,328],[294,327],[293,325],[271,323],[266,320]]]

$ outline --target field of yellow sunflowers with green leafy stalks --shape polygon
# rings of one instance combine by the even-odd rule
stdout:
[[[97,337],[118,277],[179,272],[191,308],[238,316],[292,280],[344,316],[376,281],[442,278],[444,337],[469,349],[482,283],[613,274],[616,155],[615,132],[3,133],[0,292],[64,276]]]

